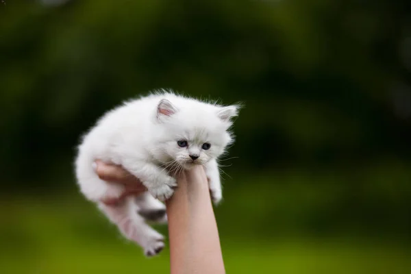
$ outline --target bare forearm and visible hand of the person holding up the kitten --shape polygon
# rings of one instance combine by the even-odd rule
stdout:
[[[101,179],[124,184],[125,194],[103,203],[113,205],[128,195],[147,189],[121,166],[96,161],[95,170]],[[208,180],[202,166],[182,172],[178,187],[166,201],[169,220],[171,274],[223,274],[223,255]]]

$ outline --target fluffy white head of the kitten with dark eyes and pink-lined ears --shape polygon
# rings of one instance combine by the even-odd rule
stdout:
[[[196,164],[218,158],[233,142],[229,128],[238,115],[238,105],[213,105],[194,99],[162,99],[158,103],[157,120],[164,138],[159,148],[166,161],[176,167],[190,169]],[[171,164],[172,166],[172,164]]]

